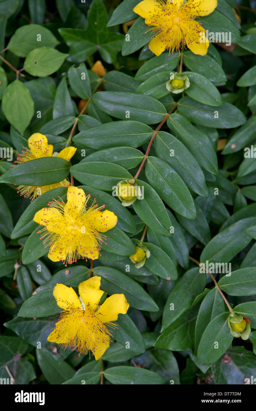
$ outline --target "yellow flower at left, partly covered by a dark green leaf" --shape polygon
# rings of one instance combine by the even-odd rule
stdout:
[[[30,138],[28,139],[28,147],[29,148],[25,147],[26,150],[23,151],[22,154],[18,155],[15,163],[21,164],[30,160],[35,160],[37,158],[52,156],[60,157],[69,161],[76,152],[76,148],[70,146],[63,148],[63,150],[61,150],[59,154],[57,152],[53,153],[53,145],[48,144],[46,136],[40,133],[35,133],[32,134],[32,136],[30,136]],[[53,188],[69,187],[69,185],[70,182],[67,180],[67,178],[55,184],[44,185],[42,187],[32,185],[20,185],[18,187],[18,193],[20,193],[21,196],[24,196],[25,198],[30,198],[33,201],[41,194],[44,194],[47,191],[52,190]]]

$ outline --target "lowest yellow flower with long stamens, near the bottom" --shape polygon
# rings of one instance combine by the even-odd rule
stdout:
[[[95,360],[99,360],[112,337],[107,326],[116,328],[112,321],[118,319],[118,314],[126,314],[129,308],[124,294],[113,294],[97,309],[104,293],[99,288],[100,280],[101,277],[92,277],[81,282],[78,286],[80,298],[71,287],[56,284],[53,296],[64,311],[48,341],[74,348],[79,355],[90,350]]]

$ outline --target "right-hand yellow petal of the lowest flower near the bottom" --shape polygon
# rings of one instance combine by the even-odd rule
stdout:
[[[96,312],[97,316],[103,323],[115,321],[118,314],[126,314],[129,303],[124,294],[113,294],[108,297]]]

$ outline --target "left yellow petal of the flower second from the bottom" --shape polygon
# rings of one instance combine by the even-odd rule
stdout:
[[[65,219],[61,212],[54,207],[42,208],[35,213],[33,220],[41,226],[46,226],[48,231],[63,234]]]

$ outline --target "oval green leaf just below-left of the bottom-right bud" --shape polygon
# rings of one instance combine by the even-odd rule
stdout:
[[[228,328],[229,312],[215,317],[205,328],[198,346],[197,356],[201,364],[217,361],[230,346],[233,335]],[[218,349],[216,349],[216,342]]]

